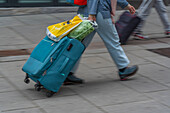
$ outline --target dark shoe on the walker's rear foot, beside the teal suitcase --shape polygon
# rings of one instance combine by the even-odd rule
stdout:
[[[64,85],[82,84],[83,82],[83,79],[77,78],[73,73],[70,72],[64,81]]]

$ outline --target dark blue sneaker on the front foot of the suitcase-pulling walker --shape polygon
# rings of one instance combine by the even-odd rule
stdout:
[[[132,67],[127,67],[123,72],[119,71],[120,80],[127,80],[129,77],[133,76],[138,70],[138,66],[134,65]]]

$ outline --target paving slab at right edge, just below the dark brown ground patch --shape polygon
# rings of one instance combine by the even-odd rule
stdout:
[[[168,57],[155,56],[155,57],[145,57],[145,59],[147,59],[151,62],[155,62],[155,63],[160,64],[160,65],[163,65],[167,68],[170,67],[170,59]]]

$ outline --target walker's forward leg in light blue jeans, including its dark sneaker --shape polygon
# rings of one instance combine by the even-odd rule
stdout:
[[[130,62],[122,47],[120,46],[119,36],[115,26],[112,23],[111,18],[103,19],[102,14],[98,13],[96,20],[98,23],[98,29],[96,30],[97,33],[104,41],[111,58],[117,65],[117,68],[119,69],[120,79],[126,80],[129,76],[135,74],[138,67],[132,66],[130,68],[127,68]]]

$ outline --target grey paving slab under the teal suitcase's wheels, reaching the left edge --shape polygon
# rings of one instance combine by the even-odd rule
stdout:
[[[15,86],[21,90],[27,97],[30,99],[42,99],[46,97],[46,91],[35,91],[34,84],[32,80],[30,80],[29,84],[24,83],[25,73],[22,72],[21,68],[24,64],[24,61],[18,62],[6,62],[0,63],[0,71],[3,70],[3,74],[7,77]],[[75,94],[69,88],[63,86],[61,91],[55,94],[56,96],[65,96],[65,95],[73,95]]]

